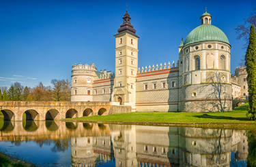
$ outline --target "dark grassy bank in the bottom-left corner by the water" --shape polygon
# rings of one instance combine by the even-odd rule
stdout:
[[[27,164],[26,162],[20,161],[14,157],[9,157],[3,153],[0,153],[0,167],[29,167],[34,166],[32,164]]]

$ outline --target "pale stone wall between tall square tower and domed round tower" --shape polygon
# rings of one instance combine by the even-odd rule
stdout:
[[[178,89],[177,67],[138,73],[137,111],[177,111]]]

